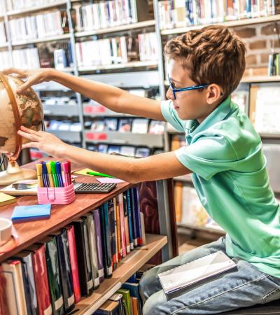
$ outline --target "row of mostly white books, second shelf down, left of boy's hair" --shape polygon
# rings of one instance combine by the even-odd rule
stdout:
[[[155,33],[76,43],[78,66],[102,66],[158,59]],[[88,53],[91,52],[91,53]]]

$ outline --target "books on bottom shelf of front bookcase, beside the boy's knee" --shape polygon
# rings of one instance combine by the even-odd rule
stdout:
[[[116,293],[109,300],[102,304],[93,315],[142,315],[142,300],[139,293],[139,281],[144,270],[127,279]]]

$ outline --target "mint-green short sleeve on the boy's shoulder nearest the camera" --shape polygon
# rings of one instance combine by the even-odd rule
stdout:
[[[175,151],[179,161],[193,173],[211,179],[218,172],[235,169],[237,155],[224,136],[201,137]]]

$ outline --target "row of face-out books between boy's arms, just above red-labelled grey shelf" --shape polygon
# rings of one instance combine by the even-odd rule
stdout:
[[[147,118],[104,118],[88,120],[85,128],[96,132],[118,131],[132,132],[134,134],[163,134],[165,122],[149,120]]]

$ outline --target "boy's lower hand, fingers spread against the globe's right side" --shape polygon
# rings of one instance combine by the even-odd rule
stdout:
[[[36,132],[21,126],[18,134],[30,140],[27,144],[22,144],[22,148],[38,148],[54,158],[62,158],[64,150],[69,147],[68,144],[48,132]]]

